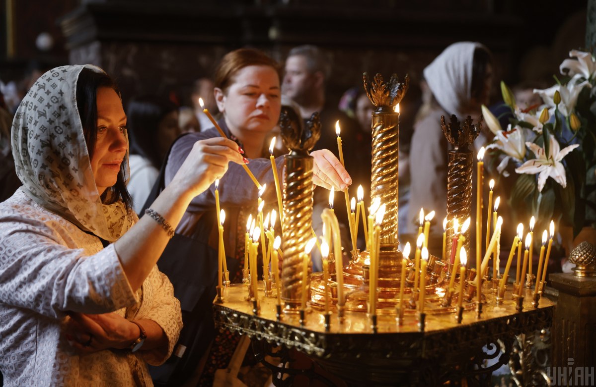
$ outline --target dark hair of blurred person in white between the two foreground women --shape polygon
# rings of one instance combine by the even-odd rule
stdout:
[[[136,97],[128,103],[126,127],[131,140],[131,153],[148,159],[157,169],[162,167],[163,155],[157,144],[159,123],[178,108],[173,102],[158,96]]]

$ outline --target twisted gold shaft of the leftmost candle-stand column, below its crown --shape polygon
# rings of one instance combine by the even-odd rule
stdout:
[[[297,310],[302,297],[302,254],[311,235],[312,165],[308,155],[290,153],[285,159],[282,295],[286,310]],[[310,278],[310,276],[308,277]],[[308,285],[307,285],[308,291]]]

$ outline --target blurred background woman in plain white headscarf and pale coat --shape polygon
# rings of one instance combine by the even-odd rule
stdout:
[[[477,119],[480,106],[488,102],[492,81],[492,58],[488,49],[477,42],[458,42],[445,49],[424,68],[424,80],[432,98],[422,109],[424,117],[414,124],[410,147],[410,203],[408,219],[418,219],[418,212],[435,210],[439,222],[434,233],[442,232],[440,214],[447,208],[447,160],[449,144],[440,127],[455,114],[460,121],[470,115]],[[480,136],[483,136],[481,134]],[[486,137],[477,139],[483,143]],[[407,232],[415,232],[418,224],[406,222]]]

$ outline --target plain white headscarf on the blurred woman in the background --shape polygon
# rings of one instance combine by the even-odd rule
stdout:
[[[424,68],[424,79],[429,84],[439,105],[447,114],[464,117],[471,99],[474,50],[488,49],[478,42],[458,42],[446,48]]]

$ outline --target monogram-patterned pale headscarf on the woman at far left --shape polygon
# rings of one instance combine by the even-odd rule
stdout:
[[[93,65],[62,66],[33,84],[13,121],[14,163],[35,202],[113,242],[136,217],[122,200],[103,204],[95,185],[76,104],[76,84],[85,67],[103,72]]]

